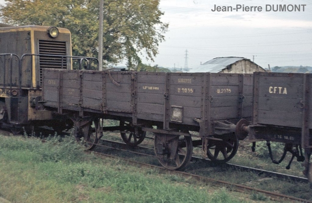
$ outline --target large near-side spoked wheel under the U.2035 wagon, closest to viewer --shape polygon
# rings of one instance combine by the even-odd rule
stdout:
[[[170,170],[183,168],[192,158],[190,136],[156,134],[154,148],[160,164]]]

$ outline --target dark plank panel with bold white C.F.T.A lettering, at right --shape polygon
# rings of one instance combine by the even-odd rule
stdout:
[[[254,124],[301,128],[304,74],[254,74]]]

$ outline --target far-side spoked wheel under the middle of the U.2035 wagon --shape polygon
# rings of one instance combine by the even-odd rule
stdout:
[[[130,126],[130,125],[131,125],[130,122],[119,121],[119,127]],[[137,133],[136,133],[136,129],[131,127],[129,132],[120,130],[120,135],[121,135],[122,140],[127,145],[135,147],[141,142],[143,142],[146,132],[143,131],[141,128],[137,128]]]

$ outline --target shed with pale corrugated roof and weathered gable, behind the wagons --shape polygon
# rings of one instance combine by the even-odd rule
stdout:
[[[244,57],[217,57],[204,64],[192,68],[190,73],[233,73],[252,74],[266,72],[265,69]]]

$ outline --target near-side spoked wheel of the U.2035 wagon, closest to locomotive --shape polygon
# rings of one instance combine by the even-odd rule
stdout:
[[[91,124],[95,126],[95,130],[93,130]],[[103,120],[99,118],[94,119],[93,122],[88,122],[80,128],[75,126],[74,134],[76,134],[76,140],[82,143],[85,150],[95,149],[103,136],[102,127]]]

